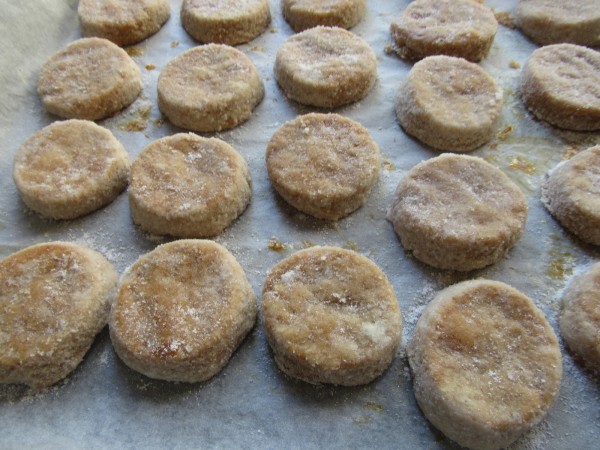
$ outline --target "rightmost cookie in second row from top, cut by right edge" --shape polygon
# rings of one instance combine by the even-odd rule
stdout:
[[[600,53],[573,44],[535,50],[521,72],[521,97],[538,118],[569,130],[600,129]]]

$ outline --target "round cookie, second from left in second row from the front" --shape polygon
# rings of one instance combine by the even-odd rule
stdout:
[[[133,162],[131,215],[152,234],[215,236],[250,203],[250,183],[246,161],[226,142],[176,134],[152,142]]]

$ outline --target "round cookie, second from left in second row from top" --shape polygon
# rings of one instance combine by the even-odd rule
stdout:
[[[178,127],[198,132],[246,121],[265,94],[252,61],[221,44],[194,47],[167,64],[158,78],[158,107]]]

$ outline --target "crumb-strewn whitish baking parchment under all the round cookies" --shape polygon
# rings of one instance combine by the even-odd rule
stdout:
[[[510,13],[515,1],[489,1]],[[525,192],[526,231],[508,257],[468,274],[439,271],[402,249],[386,210],[400,178],[438,152],[408,137],[398,126],[394,97],[411,64],[389,54],[389,24],[408,1],[369,1],[353,31],[373,48],[378,81],[362,101],[335,112],[366,126],[383,155],[381,177],[368,203],[350,217],[327,223],[301,214],[271,188],[264,163],[271,135],[285,121],[313,111],[288,101],[273,77],[277,49],[293,34],[271,1],[273,21],[260,37],[238,48],[257,66],[266,95],[243,125],[214,136],[233,145],[248,161],[252,203],[216,241],[229,248],[259,296],[266,274],[294,251],[314,244],[338,245],[374,260],[392,282],[404,319],[401,348],[390,368],[373,383],[344,388],[312,386],[276,368],[260,321],[225,369],[205,383],[146,378],[115,355],[106,329],[83,363],[63,382],[32,391],[0,386],[2,448],[456,448],[421,414],[412,393],[405,346],[416,320],[440,289],[470,278],[504,281],[531,297],[555,331],[562,290],[600,257],[565,232],[543,209],[540,182],[569,154],[600,143],[600,133],[559,131],[524,109],[518,96],[520,67],[535,44],[518,30],[501,26],[481,65],[504,89],[498,134],[471,154],[500,167]],[[102,252],[120,272],[159,243],[132,225],[126,194],[88,216],[47,221],[20,201],[12,182],[12,159],[31,134],[57,120],[36,95],[43,62],[80,36],[77,2],[0,1],[0,256],[26,246],[67,240]],[[156,106],[156,82],[164,65],[196,45],[179,20],[181,1],[172,1],[167,24],[142,44],[128,48],[140,66],[141,97],[117,116],[99,122],[113,131],[133,160],[152,140],[182,131],[164,121]],[[505,17],[506,18],[506,17]],[[563,343],[561,341],[561,347]],[[516,449],[594,448],[600,440],[600,389],[563,349],[564,378],[546,419],[513,445]]]

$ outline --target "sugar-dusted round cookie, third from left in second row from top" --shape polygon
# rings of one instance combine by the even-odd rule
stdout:
[[[337,108],[366,96],[377,78],[369,44],[349,31],[316,27],[288,38],[275,58],[285,95],[305,105]]]

